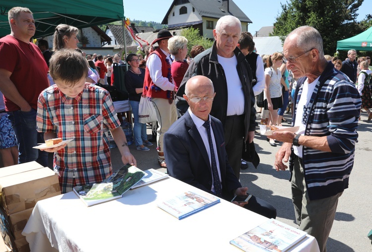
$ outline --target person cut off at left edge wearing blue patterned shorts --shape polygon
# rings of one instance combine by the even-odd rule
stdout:
[[[4,167],[18,164],[18,144],[0,92],[0,153]]]

